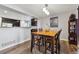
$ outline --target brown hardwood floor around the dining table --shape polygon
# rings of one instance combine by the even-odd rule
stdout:
[[[73,48],[72,48],[73,49]],[[66,41],[61,41],[61,54],[74,54],[77,51],[75,49],[72,50]],[[37,47],[33,49],[33,53],[30,52],[30,41],[24,42],[17,46],[5,49],[0,51],[0,54],[43,54],[43,47],[41,47],[41,51],[37,50]]]

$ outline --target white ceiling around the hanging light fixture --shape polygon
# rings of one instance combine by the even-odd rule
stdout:
[[[42,8],[45,7],[44,4],[8,4],[5,6],[37,18],[47,17],[42,11]],[[76,4],[48,4],[48,10],[50,12],[49,16],[74,11],[77,10],[77,7],[78,5]]]

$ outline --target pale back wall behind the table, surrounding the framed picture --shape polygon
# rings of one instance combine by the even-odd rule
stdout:
[[[68,39],[68,20],[69,20],[69,16],[72,13],[76,14],[78,18],[77,10],[54,15],[54,16],[58,16],[58,28],[50,28],[50,29],[54,29],[54,30],[62,29],[61,36],[60,36],[61,39]],[[40,19],[40,23],[42,28],[47,28],[47,27],[49,28],[50,17]]]

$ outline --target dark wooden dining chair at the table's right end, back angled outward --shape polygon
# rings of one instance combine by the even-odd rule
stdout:
[[[47,52],[47,50],[51,51],[52,53],[52,49],[53,49],[53,53],[59,54],[60,53],[60,33],[62,30],[59,30],[57,32],[57,34],[55,35],[55,37],[47,37],[45,40],[45,53]],[[53,43],[52,43],[53,42]],[[53,46],[53,47],[52,47]]]

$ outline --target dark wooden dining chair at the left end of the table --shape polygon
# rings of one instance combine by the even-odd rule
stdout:
[[[31,52],[34,46],[38,46],[38,49],[40,51],[40,36],[32,34],[32,32],[37,32],[37,29],[31,29]]]

